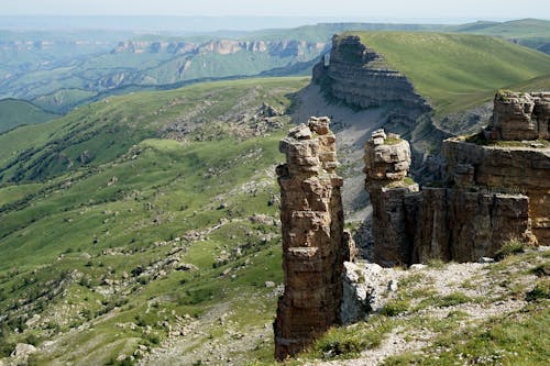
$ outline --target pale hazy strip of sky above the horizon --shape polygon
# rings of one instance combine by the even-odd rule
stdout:
[[[548,0],[0,0],[0,15],[550,19]]]

